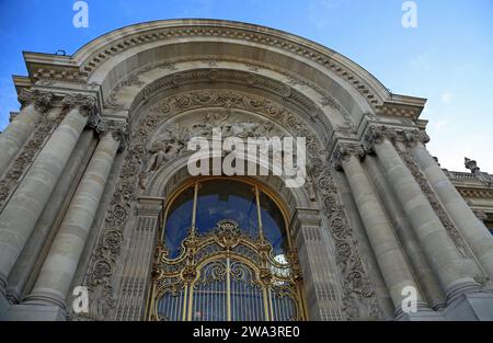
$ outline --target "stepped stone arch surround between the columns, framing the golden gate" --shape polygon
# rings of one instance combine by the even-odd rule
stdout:
[[[306,302],[303,318],[382,317],[330,174],[330,151],[334,139],[357,137],[365,114],[382,103],[387,91],[342,56],[323,55],[321,47],[290,35],[285,44],[278,39],[288,36],[279,32],[238,36],[245,27],[229,23],[229,30],[211,28],[213,37],[209,28],[200,28],[183,41],[179,36],[186,30],[162,24],[156,27],[162,38],[154,39],[153,28],[147,27],[148,38],[134,41],[139,28],[114,35],[93,61],[102,42],[78,53],[89,61],[89,81],[101,84],[107,115],[131,126],[116,193],[85,276],[99,299],[92,305],[95,317],[107,312],[117,320],[146,318],[153,247],[158,228],[164,226],[159,213],[176,185],[188,179],[187,138],[210,138],[213,127],[253,137],[307,139],[309,178],[301,188],[287,190],[273,176],[261,180],[288,208],[287,227],[303,279],[298,298]],[[218,34],[226,36],[218,39]],[[103,57],[106,54],[115,56]],[[101,273],[110,275],[103,283]]]

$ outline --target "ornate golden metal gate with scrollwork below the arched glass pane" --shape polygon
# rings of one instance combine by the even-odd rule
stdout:
[[[153,265],[150,320],[290,321],[306,319],[296,252],[273,255],[263,235],[252,238],[234,220],[205,235],[191,229],[181,254],[159,245]]]

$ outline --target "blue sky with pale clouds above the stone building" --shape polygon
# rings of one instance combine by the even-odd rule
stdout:
[[[22,50],[73,54],[89,41],[142,21],[228,19],[310,38],[353,59],[393,93],[427,98],[428,145],[442,167],[463,157],[493,173],[493,0],[87,0],[89,28],[72,25],[76,0],[0,0],[0,129],[19,108],[12,75]]]

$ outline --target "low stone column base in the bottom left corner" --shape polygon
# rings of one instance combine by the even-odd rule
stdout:
[[[66,313],[58,306],[14,305],[7,311],[7,321],[66,321]]]

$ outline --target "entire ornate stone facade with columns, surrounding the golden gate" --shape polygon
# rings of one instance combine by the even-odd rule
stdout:
[[[148,318],[163,206],[191,178],[187,142],[213,128],[306,138],[303,187],[255,179],[289,211],[308,319],[493,309],[492,178],[470,160],[472,174],[439,168],[425,100],[390,94],[325,47],[241,23],[134,25],[49,57],[25,55],[23,108],[0,135],[2,318]],[[70,306],[77,286],[89,312]],[[401,308],[405,286],[419,289],[416,313]]]

